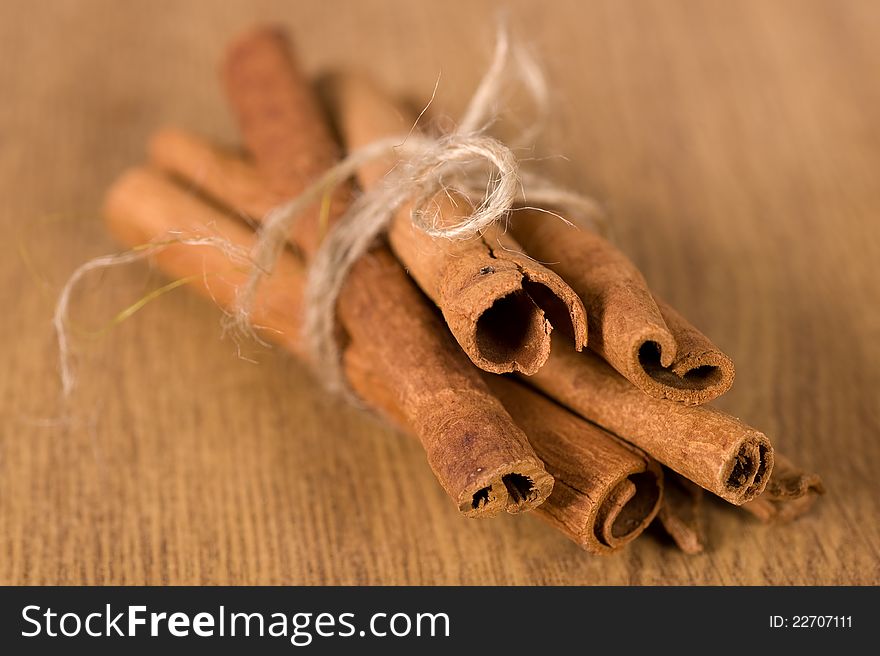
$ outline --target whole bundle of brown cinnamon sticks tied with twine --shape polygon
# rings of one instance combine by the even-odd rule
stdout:
[[[319,101],[274,27],[237,39],[222,77],[243,151],[161,130],[149,162],[108,191],[105,216],[127,246],[162,241],[159,268],[232,308],[247,271],[173,237],[250,248],[252,226],[341,153],[405,135],[416,117],[351,75],[330,79]],[[301,333],[309,264],[353,198],[398,163],[369,162],[295,222],[253,306],[261,335],[312,358]],[[442,192],[432,202],[449,221],[471,209]],[[528,209],[509,230],[437,239],[414,229],[411,210],[350,271],[338,342],[349,387],[420,440],[463,515],[534,512],[594,553],[658,517],[696,552],[704,490],[767,521],[797,516],[823,492],[761,431],[704,405],[730,388],[733,363],[606,239]]]

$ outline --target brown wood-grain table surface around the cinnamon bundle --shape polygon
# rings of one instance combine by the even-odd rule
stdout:
[[[79,387],[59,399],[61,284],[115,249],[103,191],[165,124],[235,138],[217,81],[256,20],[309,70],[359,66],[455,116],[500,4],[0,4],[0,583],[880,582],[880,4],[510,2],[545,64],[546,170],[612,211],[649,282],[734,358],[718,405],[819,471],[809,516],[720,503],[709,549],[654,530],[610,557],[536,518],[458,516],[415,441],[147,266],[76,296]],[[527,106],[525,106],[527,108]],[[564,156],[556,157],[556,156]]]

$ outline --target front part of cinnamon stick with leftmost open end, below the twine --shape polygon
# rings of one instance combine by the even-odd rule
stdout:
[[[480,384],[387,249],[355,264],[338,313],[349,337],[393,385],[431,468],[464,514],[519,512],[547,498],[553,479],[526,435]]]

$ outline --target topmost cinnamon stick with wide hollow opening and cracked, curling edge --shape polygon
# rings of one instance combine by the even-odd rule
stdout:
[[[333,78],[328,90],[349,151],[412,129],[415,117],[363,78]],[[370,162],[358,181],[371,189],[396,164],[394,157]],[[441,225],[458,223],[473,211],[466,198],[446,191],[430,205]],[[396,212],[388,231],[391,248],[475,365],[532,374],[549,356],[553,327],[573,337],[577,350],[586,344],[580,299],[559,276],[524,256],[506,230],[492,227],[467,240],[433,238],[413,227],[412,209],[408,203]]]

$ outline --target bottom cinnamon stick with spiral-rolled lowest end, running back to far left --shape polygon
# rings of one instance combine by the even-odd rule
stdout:
[[[114,184],[107,196],[105,216],[114,235],[130,246],[182,228],[194,234],[221,234],[242,248],[253,243],[253,234],[244,226],[173,182],[144,169],[129,172]],[[232,306],[237,287],[247,280],[246,271],[230,268],[223,253],[208,247],[172,244],[157,252],[155,261],[166,273],[189,278],[197,291],[221,307]],[[216,278],[203,275],[216,271],[224,273]],[[300,357],[306,355],[300,342],[304,284],[299,261],[292,253],[282,254],[275,271],[260,289],[252,316],[263,335]],[[415,289],[413,293],[417,293]],[[369,326],[369,317],[365,320]],[[447,341],[452,345],[451,340]],[[344,366],[355,392],[399,427],[418,433],[412,424],[412,413],[402,406],[401,395],[389,384],[391,379],[384,364],[371,348],[371,340],[364,340],[362,334],[347,343]],[[475,371],[466,361],[465,365],[469,371]],[[491,380],[492,392],[515,414],[516,421],[526,427],[548,467],[559,476],[561,485],[554,487],[535,512],[595,553],[614,551],[637,537],[659,507],[663,485],[659,465],[524,386],[497,377],[487,380]],[[455,380],[450,382],[454,387]],[[467,399],[462,399],[462,403],[466,404]],[[511,476],[504,483],[500,489],[483,490],[482,496],[478,494],[474,500],[497,507],[499,494],[507,494],[511,502],[521,504],[533,494],[534,483],[519,476]]]

